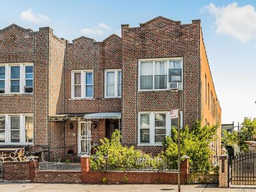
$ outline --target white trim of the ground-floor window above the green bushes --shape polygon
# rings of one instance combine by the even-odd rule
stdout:
[[[163,146],[163,143],[155,143],[155,115],[156,113],[166,114],[166,136],[171,136],[171,114],[170,111],[148,111],[138,113],[138,146]],[[140,142],[140,115],[149,114],[150,129],[149,129],[149,143]]]

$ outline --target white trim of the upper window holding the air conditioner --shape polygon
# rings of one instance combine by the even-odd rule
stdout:
[[[166,91],[169,90],[168,89],[168,83],[169,83],[169,68],[170,68],[170,62],[169,61],[181,61],[181,87],[183,89],[183,58],[154,58],[154,59],[141,59],[138,61],[138,91],[139,92],[152,92],[152,91],[157,91],[157,92],[161,92],[161,91]],[[153,88],[152,90],[141,90],[140,89],[140,72],[141,72],[141,61],[151,61],[153,62]],[[166,89],[155,89],[155,62],[156,61],[166,61],[167,62],[167,88]]]

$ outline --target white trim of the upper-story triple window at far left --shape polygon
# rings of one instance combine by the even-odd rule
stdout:
[[[4,79],[4,93],[0,93],[0,95],[17,95],[17,94],[33,94],[34,92],[34,74],[35,70],[33,67],[33,92],[26,93],[25,86],[26,86],[26,79],[25,79],[25,66],[34,66],[33,63],[0,63],[1,67],[5,67],[5,79]],[[19,92],[11,92],[11,66],[19,66],[20,67],[20,90]]]

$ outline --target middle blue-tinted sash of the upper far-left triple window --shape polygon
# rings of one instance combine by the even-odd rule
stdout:
[[[20,66],[10,66],[11,68],[11,93],[20,92]]]

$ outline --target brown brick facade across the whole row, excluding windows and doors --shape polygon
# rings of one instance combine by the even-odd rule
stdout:
[[[33,63],[34,90],[29,94],[1,94],[0,115],[33,114],[34,143],[29,148],[48,149],[51,160],[79,160],[78,121],[51,121],[52,115],[122,113],[122,142],[136,146],[141,111],[181,109],[184,125],[205,116],[201,72],[209,65],[202,65],[202,52],[200,20],[181,24],[156,17],[136,28],[122,25],[122,38],[111,35],[103,42],[95,42],[81,36],[71,43],[55,36],[51,28],[31,31],[13,24],[0,30],[0,63]],[[178,57],[184,65],[182,91],[138,91],[139,59]],[[104,97],[106,69],[122,70],[121,98]],[[93,70],[92,99],[72,98],[72,70]],[[94,122],[97,128],[92,129],[92,144],[97,145],[106,136],[106,120]],[[161,146],[138,148],[153,154],[162,150]],[[73,155],[68,156],[68,152]]]

